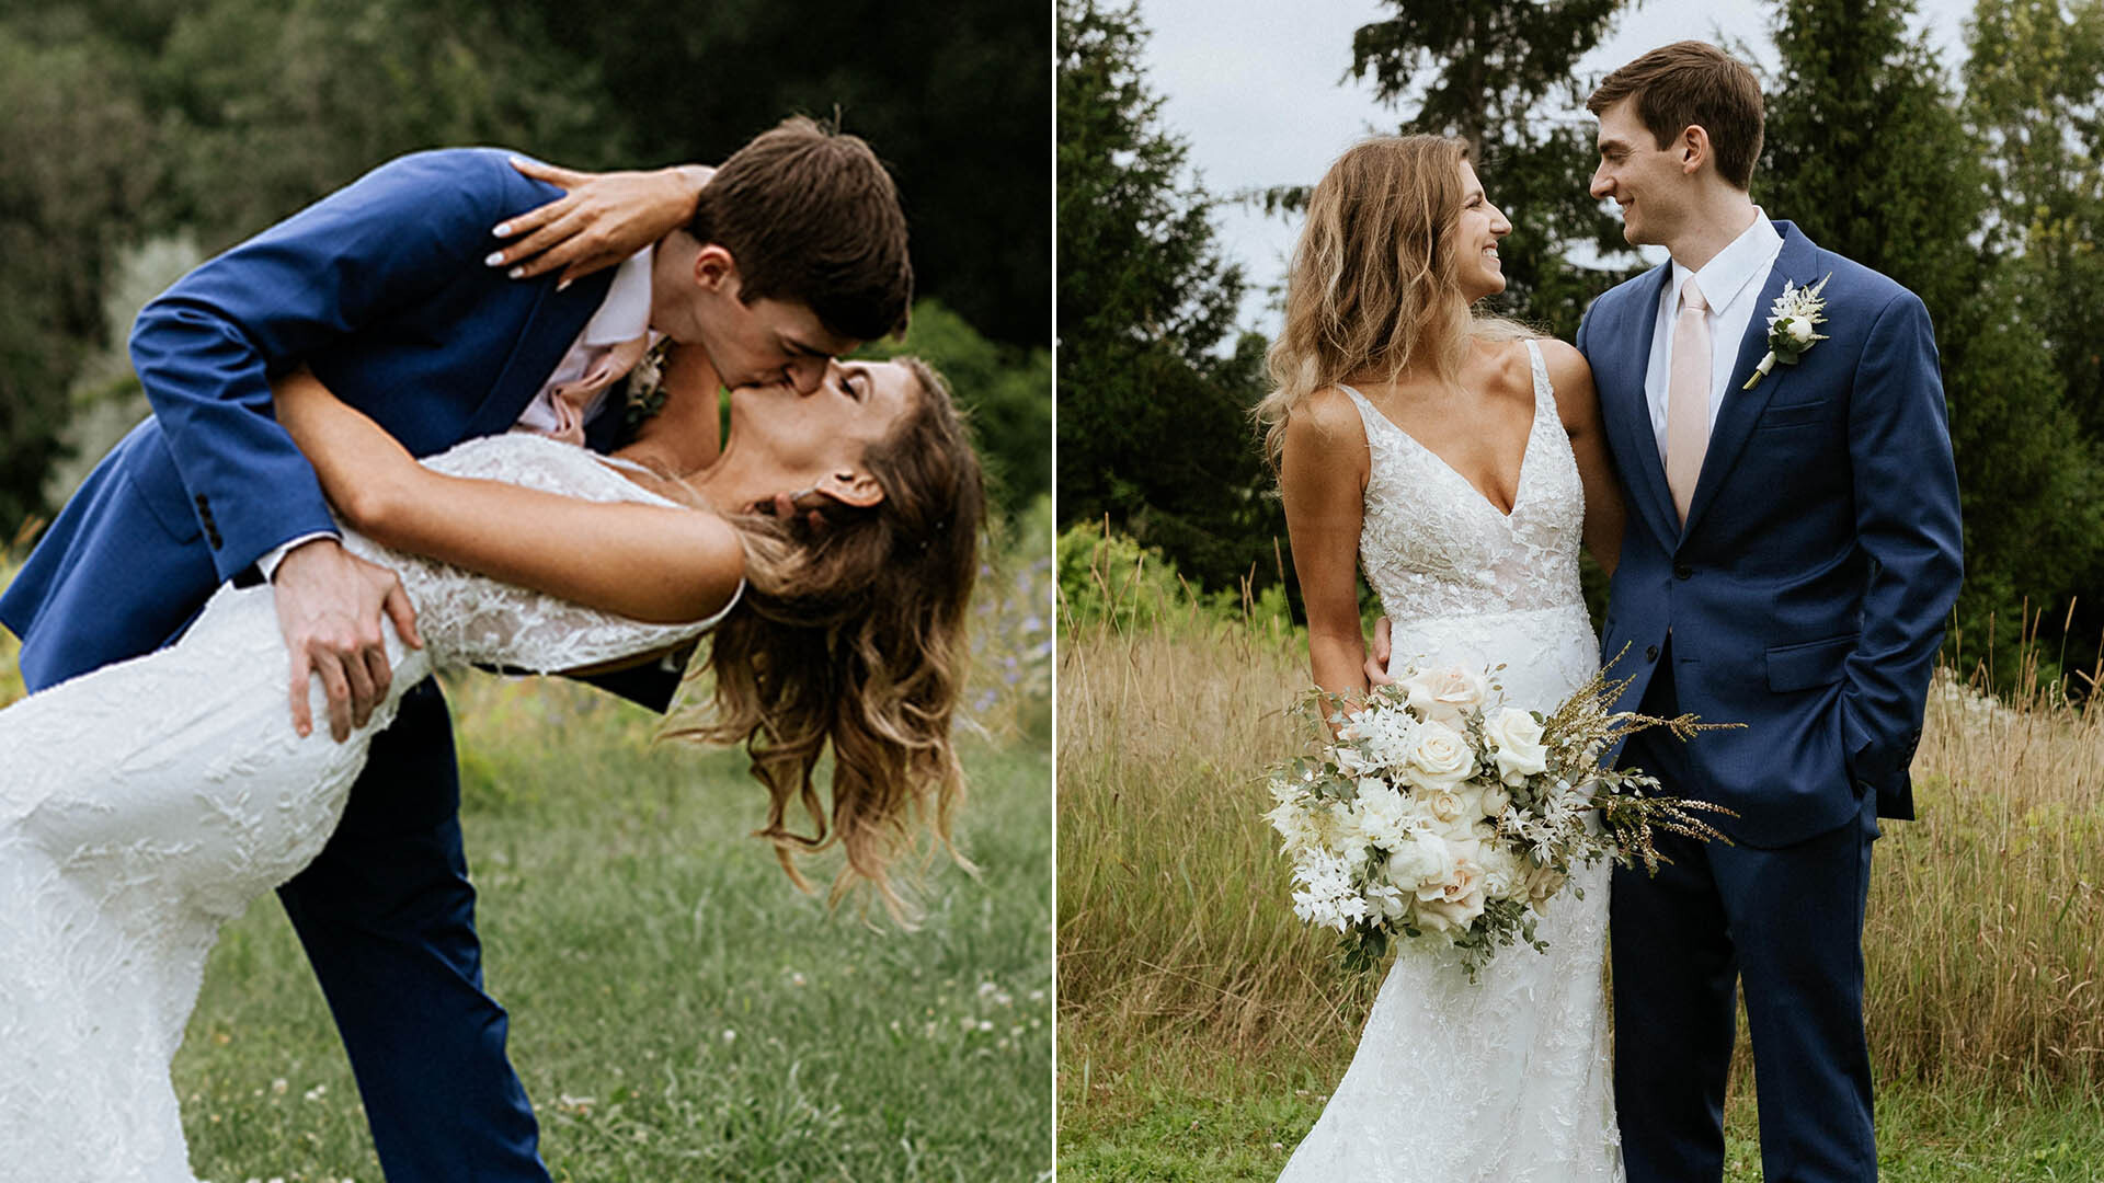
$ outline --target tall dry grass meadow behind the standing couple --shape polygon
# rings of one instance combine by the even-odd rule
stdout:
[[[1304,653],[1218,610],[1063,619],[1063,1183],[1269,1181],[1344,1074],[1378,981],[1294,920],[1260,819]],[[1915,785],[1864,933],[1883,1177],[2104,1179],[2104,705],[1940,674]],[[1742,1034],[1732,1181],[1751,1084]]]

